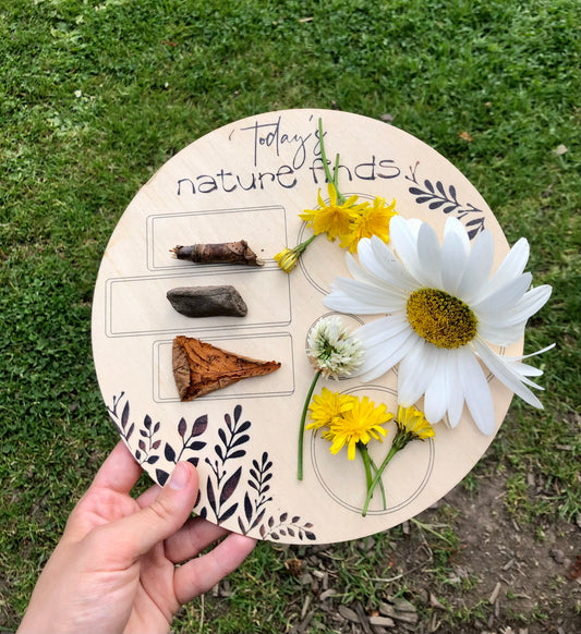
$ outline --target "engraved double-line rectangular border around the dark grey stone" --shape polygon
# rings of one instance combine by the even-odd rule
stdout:
[[[244,267],[244,269],[249,269],[250,267]],[[214,271],[214,269],[211,269]],[[275,269],[262,269],[259,275],[265,275],[265,273],[276,273],[278,271],[278,267]],[[126,278],[110,278],[108,280],[105,281],[105,334],[106,337],[145,337],[148,334],[161,334],[165,332],[175,332],[177,329],[174,326],[172,326],[171,328],[157,328],[154,330],[135,330],[135,331],[122,331],[122,332],[116,332],[112,329],[112,325],[113,325],[113,284],[119,283],[119,282],[133,282],[133,281],[147,281],[147,280],[167,280],[167,279],[180,279],[180,278],[185,278],[185,279],[191,279],[193,276],[198,277],[198,276],[207,276],[208,275],[208,269],[204,268],[203,270],[196,270],[196,271],[190,271],[187,273],[184,272],[179,272],[179,273],[173,273],[173,275],[161,275],[161,276],[131,276],[131,277],[126,277]],[[255,272],[254,270],[229,270],[229,271],[216,271],[219,272],[221,276],[237,276],[237,275],[246,275],[246,273],[251,273],[251,272]],[[290,290],[290,277],[289,276],[285,276],[285,278],[287,279],[287,293],[288,293],[288,319],[281,319],[279,321],[258,321],[258,322],[253,322],[250,324],[247,321],[244,321],[243,324],[232,324],[231,326],[227,326],[227,325],[216,325],[216,326],[211,326],[210,324],[208,324],[207,326],[204,326],[203,324],[195,324],[192,325],[192,328],[189,328],[187,330],[195,330],[196,332],[198,331],[210,331],[210,330],[232,330],[232,329],[237,329],[237,330],[241,330],[241,329],[249,329],[249,328],[265,328],[265,327],[273,327],[273,326],[288,326],[291,321],[292,321],[292,306],[291,306],[291,290]],[[283,279],[285,279],[283,278]],[[199,319],[209,319],[209,318],[199,318]],[[182,329],[183,330],[183,329]]]

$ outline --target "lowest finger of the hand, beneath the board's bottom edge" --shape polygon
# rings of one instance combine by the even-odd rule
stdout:
[[[232,533],[207,554],[180,565],[173,574],[178,601],[186,603],[209,590],[244,561],[255,544],[251,537]]]

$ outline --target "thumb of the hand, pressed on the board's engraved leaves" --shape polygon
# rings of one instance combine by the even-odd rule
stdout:
[[[179,462],[156,499],[117,524],[117,537],[126,545],[126,554],[140,557],[173,535],[190,516],[198,489],[193,464]]]

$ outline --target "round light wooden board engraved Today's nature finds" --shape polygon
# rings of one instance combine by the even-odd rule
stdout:
[[[347,451],[305,435],[304,480],[296,479],[299,422],[313,369],[305,355],[312,325],[329,310],[323,297],[336,276],[349,275],[338,242],[318,236],[300,266],[281,271],[274,256],[311,235],[303,209],[327,198],[317,135],[340,155],[344,195],[397,200],[404,218],[443,233],[456,216],[474,237],[495,239],[495,267],[508,244],[470,182],[434,149],[386,123],[338,111],[288,110],[225,125],[171,158],[121,217],[95,289],[93,350],[101,393],[124,442],[152,478],[164,484],[179,460],[199,472],[196,513],[230,531],[282,542],[332,542],[378,533],[420,513],[457,485],[494,436],[481,434],[464,410],[456,429],[443,423],[435,439],[411,442],[384,474],[387,508],[375,495],[362,517],[365,476]],[[196,265],[172,258],[178,245],[246,240],[264,267]],[[190,318],[168,290],[232,284],[245,317]],[[376,317],[342,316],[355,328]],[[172,375],[173,338],[198,338],[237,354],[278,361],[279,370],[181,402]],[[522,342],[501,351],[518,355]],[[373,383],[322,380],[334,391],[366,394],[397,409],[397,369]],[[496,429],[512,393],[489,377]],[[421,405],[421,404],[420,404]],[[370,443],[382,462],[394,438]]]

